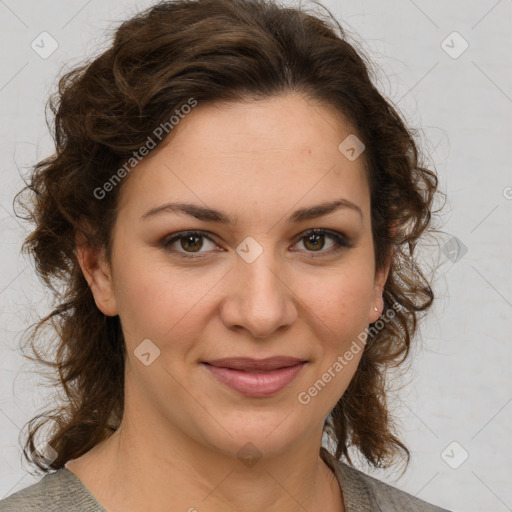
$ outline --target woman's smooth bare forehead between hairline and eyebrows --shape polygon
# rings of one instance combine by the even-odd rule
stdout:
[[[278,206],[345,196],[367,209],[364,160],[339,149],[352,133],[333,108],[298,94],[199,103],[130,173],[120,206],[142,215],[179,200],[238,210],[260,204],[275,217]]]

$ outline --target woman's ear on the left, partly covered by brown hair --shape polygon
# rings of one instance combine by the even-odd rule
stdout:
[[[92,247],[84,243],[83,238],[77,237],[76,255],[98,309],[107,316],[117,315],[112,274],[104,248]]]

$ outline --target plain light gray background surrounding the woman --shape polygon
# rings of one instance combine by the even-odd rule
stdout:
[[[19,252],[27,229],[12,211],[19,172],[52,149],[44,104],[64,64],[95,54],[107,27],[150,4],[0,0],[0,498],[38,480],[22,464],[18,434],[53,394],[17,351],[22,330],[49,310]],[[439,248],[425,253],[425,261],[442,263],[437,302],[421,349],[413,352],[408,385],[393,400],[412,462],[400,480],[396,473],[373,474],[453,511],[512,510],[511,1],[325,5],[376,60],[384,94],[421,127],[448,194],[443,243],[455,236],[467,247],[459,261]],[[46,59],[31,48],[43,31],[59,45]],[[458,58],[464,41],[453,31],[469,45]],[[467,460],[450,467],[466,452]]]

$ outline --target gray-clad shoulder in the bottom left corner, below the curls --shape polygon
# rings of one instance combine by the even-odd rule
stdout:
[[[66,468],[0,501],[0,512],[104,512],[78,477]]]

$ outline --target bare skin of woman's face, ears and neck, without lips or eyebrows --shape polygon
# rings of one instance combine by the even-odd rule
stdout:
[[[332,108],[296,93],[198,105],[122,183],[112,265],[103,251],[79,247],[98,308],[120,316],[128,354],[120,429],[66,464],[107,510],[344,510],[319,450],[324,420],[362,351],[309,404],[297,397],[382,312],[389,266],[375,272],[363,158],[338,150],[351,133]],[[286,221],[339,198],[362,218],[345,208]],[[176,201],[237,221],[175,212],[141,220]],[[315,250],[304,235],[313,228],[343,233],[354,247],[333,252],[335,240],[324,235]],[[185,230],[212,240],[164,247]],[[249,236],[263,249],[252,263],[236,252]],[[145,339],[160,350],[149,366],[134,355]],[[308,364],[268,398],[241,395],[199,364],[275,355]],[[262,454],[252,467],[237,457],[248,442]]]

